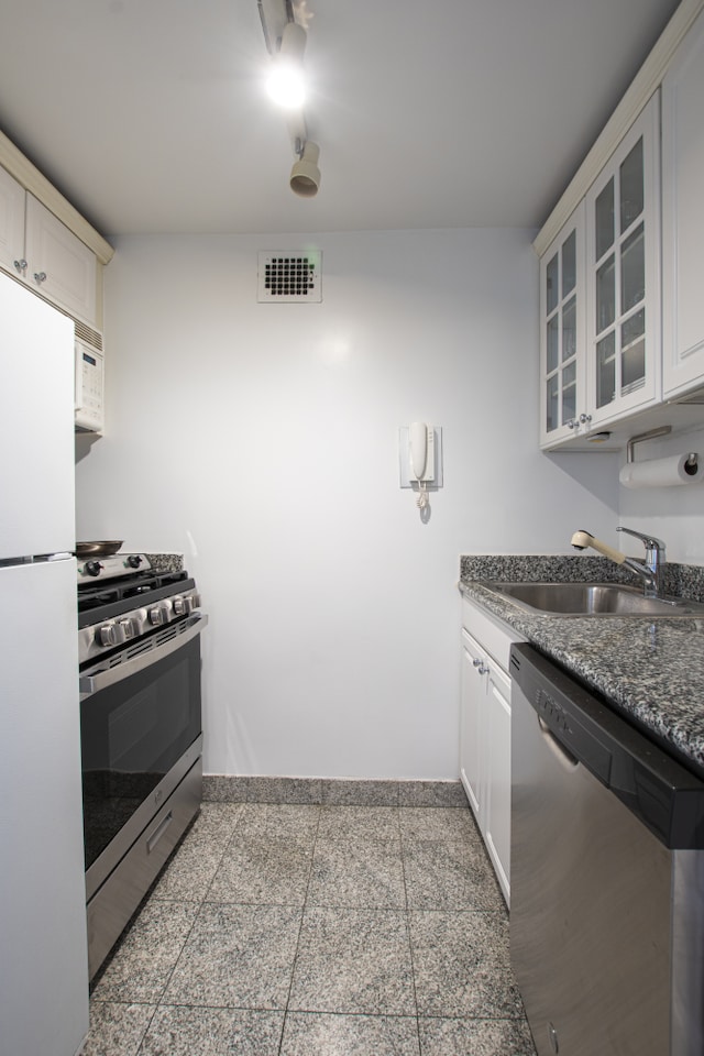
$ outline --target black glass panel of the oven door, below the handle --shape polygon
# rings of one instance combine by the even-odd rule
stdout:
[[[86,868],[194,743],[200,638],[80,705]]]

